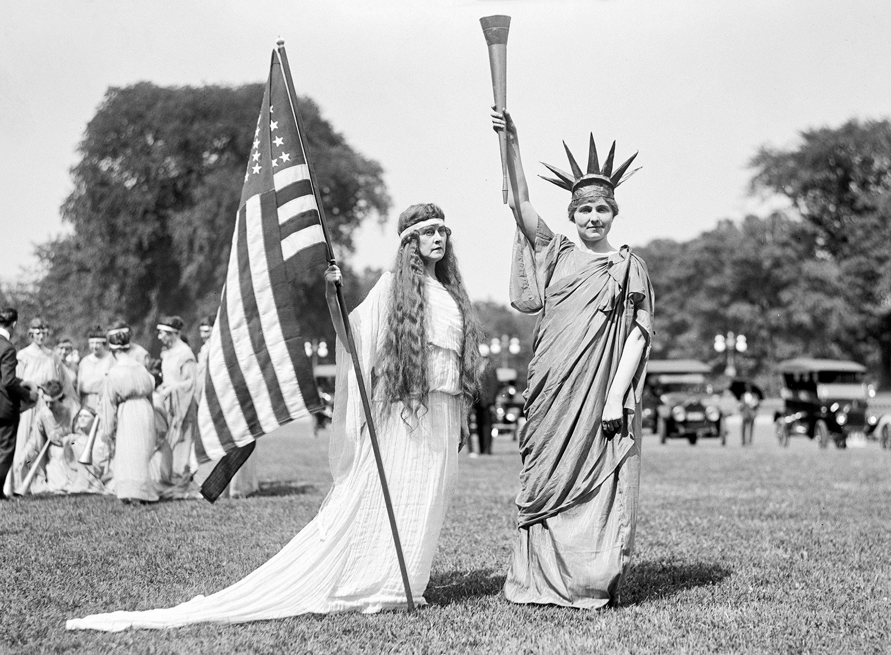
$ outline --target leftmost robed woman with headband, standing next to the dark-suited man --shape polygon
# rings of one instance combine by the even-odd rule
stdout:
[[[44,319],[40,317],[31,319],[28,330],[31,343],[16,353],[18,364],[15,368],[15,376],[22,380],[28,380],[35,385],[36,389],[50,380],[61,380],[64,376],[61,362],[46,346],[46,338],[49,333],[49,324]],[[4,484],[4,495],[7,497],[12,496],[13,489],[18,489],[25,476],[28,475],[30,465],[26,451],[33,450],[33,444],[30,441],[35,416],[37,416],[36,406],[23,411],[19,418],[19,429],[15,437],[15,455],[12,458],[12,468],[6,475]]]

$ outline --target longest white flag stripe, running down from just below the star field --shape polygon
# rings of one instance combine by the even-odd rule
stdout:
[[[251,196],[245,204],[248,219],[248,258],[250,270],[254,274],[254,297],[260,314],[260,326],[266,339],[266,350],[273,362],[275,376],[282,390],[282,397],[291,418],[308,416],[307,406],[300,393],[297,374],[290,361],[288,346],[284,343],[282,326],[279,324],[278,308],[269,281],[266,267],[266,245],[263,239],[262,209],[260,197]]]

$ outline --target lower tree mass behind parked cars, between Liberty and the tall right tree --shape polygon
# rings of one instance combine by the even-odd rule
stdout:
[[[832,339],[848,320],[833,264],[815,259],[813,234],[783,214],[722,221],[686,243],[638,248],[656,294],[653,357],[691,357],[723,370],[715,335],[748,337],[740,375],[766,375],[797,355],[850,356]]]

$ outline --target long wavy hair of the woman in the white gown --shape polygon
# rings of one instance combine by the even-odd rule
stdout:
[[[402,233],[417,222],[431,218],[445,220],[446,214],[432,203],[408,207],[399,214],[396,231]],[[463,319],[461,352],[461,400],[462,409],[470,410],[479,392],[481,355],[478,351],[483,331],[461,272],[454,256],[452,238],[446,239],[446,253],[436,264],[437,280],[454,298]],[[380,373],[377,387],[384,410],[393,403],[404,406],[402,418],[418,417],[421,408],[427,408],[430,384],[427,370],[427,326],[424,321],[427,292],[424,283],[425,268],[421,258],[421,239],[416,230],[405,235],[399,244],[393,263],[394,276],[388,312],[388,329],[381,352]]]

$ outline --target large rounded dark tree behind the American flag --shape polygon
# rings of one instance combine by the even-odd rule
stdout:
[[[73,233],[37,250],[43,311],[76,334],[115,315],[139,334],[162,313],[194,323],[216,311],[262,95],[259,84],[110,88],[86,126],[62,206]],[[388,210],[382,169],[315,102],[299,102],[331,236],[348,255],[353,230]],[[313,301],[307,332],[323,336],[321,283],[319,271],[296,293]]]

